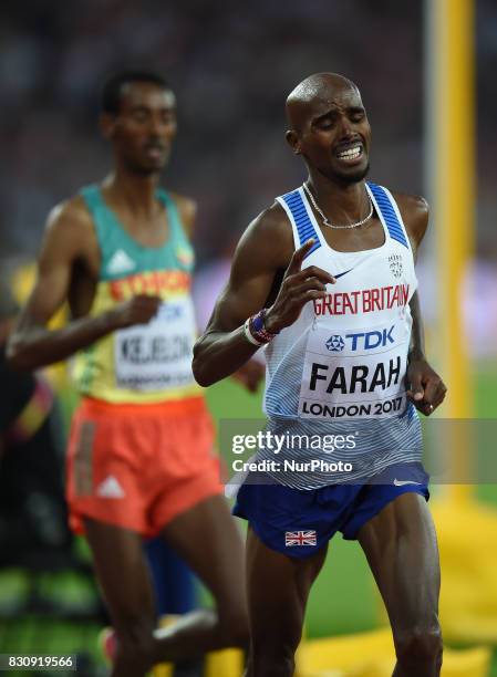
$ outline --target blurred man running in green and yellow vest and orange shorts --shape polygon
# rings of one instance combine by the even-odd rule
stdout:
[[[114,171],[49,217],[39,278],[10,340],[33,369],[76,354],[83,395],[68,460],[71,522],[84,530],[117,634],[112,675],[244,645],[242,543],[221,496],[213,425],[191,374],[189,244],[195,205],[158,187],[176,134],[175,95],[153,73],[104,87]],[[73,320],[46,323],[69,301]],[[142,537],[162,534],[217,611],[155,631]]]

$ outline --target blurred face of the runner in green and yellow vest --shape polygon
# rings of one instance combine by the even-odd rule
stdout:
[[[176,127],[173,92],[153,83],[130,83],[123,87],[108,136],[128,169],[148,175],[167,164]]]

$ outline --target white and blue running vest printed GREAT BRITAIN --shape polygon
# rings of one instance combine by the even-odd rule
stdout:
[[[336,283],[327,285],[325,298],[310,301],[266,348],[268,429],[354,437],[353,446],[331,452],[287,445],[281,457],[288,459],[325,458],[353,466],[346,473],[318,468],[273,475],[296,488],[366,478],[396,462],[421,460],[420,421],[405,395],[408,303],[417,288],[413,252],[391,192],[374,184],[366,189],[384,243],[354,252],[327,243],[302,188],[277,198],[291,222],[296,249],[315,239],[302,268],[317,265]],[[258,457],[275,458],[267,448]]]

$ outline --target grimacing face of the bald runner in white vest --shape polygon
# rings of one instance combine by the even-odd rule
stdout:
[[[361,181],[369,170],[371,127],[354,87],[335,88],[306,110],[298,150],[310,167],[345,184]]]

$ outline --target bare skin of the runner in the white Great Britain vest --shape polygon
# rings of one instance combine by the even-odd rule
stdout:
[[[309,170],[308,186],[332,223],[363,219],[369,211],[364,177],[369,167],[371,128],[356,86],[334,74],[310,76],[287,101],[287,140]],[[354,156],[343,156],[353,150]],[[414,256],[425,235],[428,208],[423,198],[394,194]],[[318,223],[321,217],[314,211]],[[374,249],[384,242],[376,213],[350,230],[321,227],[339,251]],[[267,243],[271,242],[268,247]],[[290,223],[279,204],[250,223],[232,263],[230,281],[219,298],[204,336],[195,348],[194,374],[207,385],[229,375],[255,347],[244,335],[245,320],[267,308],[266,327],[290,326],[306,303],[322,298],[330,273],[301,269],[312,242],[293,249]],[[411,301],[412,344],[408,397],[429,415],[445,396],[445,385],[429,366],[423,341],[417,293]],[[362,527],[359,542],[383,596],[397,653],[395,677],[436,677],[442,662],[438,614],[439,564],[436,537],[425,500],[405,493]],[[268,549],[249,530],[247,575],[251,653],[248,677],[290,676],[300,642],[310,587],[327,549],[306,560]]]

